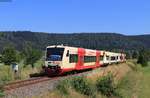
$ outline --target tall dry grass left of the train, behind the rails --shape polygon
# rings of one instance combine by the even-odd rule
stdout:
[[[8,82],[8,81],[30,78],[31,74],[41,72],[43,62],[44,59],[42,58],[41,60],[36,62],[35,68],[32,68],[31,65],[24,65],[24,62],[20,61],[18,63],[19,71],[17,73],[14,73],[11,65],[8,66],[0,63],[0,81]]]

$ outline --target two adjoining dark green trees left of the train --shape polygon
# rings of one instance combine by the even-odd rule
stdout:
[[[6,46],[0,54],[0,61],[5,65],[13,65],[23,60],[24,67],[32,65],[32,68],[43,55],[41,50],[33,48],[32,43],[24,44],[24,48],[21,51],[16,50],[13,46]]]

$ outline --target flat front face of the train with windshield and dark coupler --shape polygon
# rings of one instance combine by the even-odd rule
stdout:
[[[48,46],[46,48],[45,66],[43,66],[46,75],[54,76],[61,73],[64,49],[63,46]]]

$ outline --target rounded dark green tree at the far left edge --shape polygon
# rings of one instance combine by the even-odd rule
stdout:
[[[6,65],[11,65],[16,62],[16,50],[11,46],[3,48],[1,61]]]

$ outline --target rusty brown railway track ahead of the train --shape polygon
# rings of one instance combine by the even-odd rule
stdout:
[[[10,90],[13,90],[13,89],[16,89],[16,88],[29,86],[29,85],[41,83],[41,82],[44,82],[44,81],[56,80],[58,78],[60,78],[60,77],[54,77],[54,78],[38,77],[38,78],[31,78],[31,79],[26,79],[26,80],[10,82],[10,83],[5,84],[4,91],[10,91]]]

